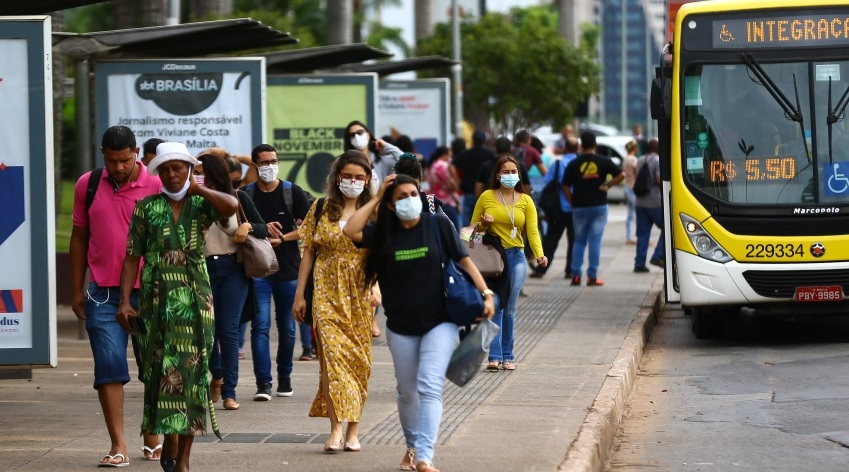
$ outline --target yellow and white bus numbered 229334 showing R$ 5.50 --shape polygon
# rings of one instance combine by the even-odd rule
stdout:
[[[651,100],[667,300],[694,334],[743,307],[847,311],[849,4],[684,4]]]

